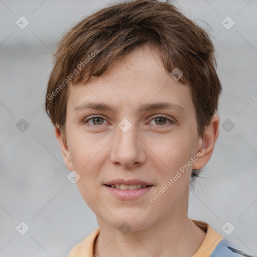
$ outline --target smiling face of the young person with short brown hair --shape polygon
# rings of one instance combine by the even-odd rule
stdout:
[[[86,85],[69,85],[66,135],[67,146],[57,133],[64,161],[80,175],[76,184],[89,208],[109,225],[127,222],[135,231],[187,215],[192,168],[210,157],[189,86],[167,74],[148,46]],[[151,186],[119,193],[105,185],[115,179]]]

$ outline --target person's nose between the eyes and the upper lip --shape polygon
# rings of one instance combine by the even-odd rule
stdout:
[[[112,142],[110,160],[114,165],[135,168],[146,160],[146,146],[135,126],[124,132],[117,127],[117,135]]]

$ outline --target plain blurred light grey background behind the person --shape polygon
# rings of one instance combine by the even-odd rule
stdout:
[[[117,2],[0,0],[0,256],[65,256],[98,227],[67,179],[43,103],[51,55],[64,31],[111,3]],[[220,135],[190,191],[189,217],[256,256],[257,2],[170,3],[212,35],[223,85]],[[30,22],[24,30],[16,25],[21,16]],[[229,30],[221,24],[226,16],[235,21]],[[29,124],[24,132],[16,126],[21,119]],[[227,119],[235,125],[229,132],[222,127]],[[23,236],[16,230],[22,221],[30,228]],[[227,221],[235,227],[229,236],[221,229]]]

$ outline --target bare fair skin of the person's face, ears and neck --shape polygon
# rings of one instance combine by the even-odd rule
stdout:
[[[89,100],[111,105],[114,110],[74,111]],[[156,102],[175,103],[184,112],[138,111],[140,104]],[[103,119],[83,123],[90,115],[102,115]],[[167,119],[158,119],[160,115]],[[118,126],[124,118],[132,124],[127,132]],[[86,85],[69,85],[67,145],[58,129],[56,136],[66,167],[80,174],[77,187],[97,217],[100,234],[94,254],[192,257],[205,232],[187,216],[191,171],[209,161],[218,133],[219,117],[214,115],[204,135],[198,135],[189,86],[165,72],[158,52],[148,45],[117,62],[100,78]],[[197,152],[202,156],[151,203],[149,198]],[[139,199],[119,200],[103,185],[115,178],[138,178],[153,187]],[[123,222],[132,228],[127,234],[119,230]]]

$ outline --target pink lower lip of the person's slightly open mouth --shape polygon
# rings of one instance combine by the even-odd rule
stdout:
[[[153,186],[149,187],[142,187],[139,189],[134,190],[121,190],[114,187],[109,187],[104,185],[104,187],[115,197],[117,197],[120,200],[134,200],[139,198],[140,196],[148,193]]]

